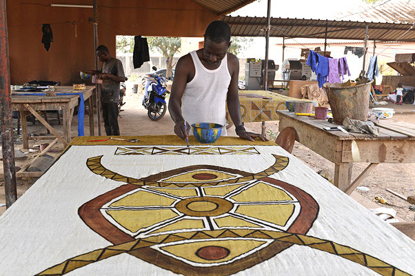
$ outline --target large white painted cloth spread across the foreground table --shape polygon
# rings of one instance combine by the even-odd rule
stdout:
[[[134,137],[136,138],[136,137]],[[270,142],[77,138],[0,217],[0,275],[414,275],[415,242]],[[190,139],[192,147],[205,147]]]

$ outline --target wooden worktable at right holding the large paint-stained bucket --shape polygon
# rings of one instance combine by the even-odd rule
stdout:
[[[415,125],[400,121],[381,120],[378,124],[379,135],[358,133],[345,134],[338,131],[326,131],[323,127],[337,126],[325,120],[294,115],[294,112],[279,110],[279,130],[287,127],[296,129],[296,141],[332,161],[334,167],[334,185],[350,194],[361,183],[365,175],[379,163],[415,162]],[[352,183],[352,143],[356,142],[360,162],[370,163]]]

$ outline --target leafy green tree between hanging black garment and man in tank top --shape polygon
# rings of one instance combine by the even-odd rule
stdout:
[[[165,58],[166,75],[172,76],[173,56],[180,50],[180,37],[149,37],[147,39],[148,47],[151,50],[158,50]]]

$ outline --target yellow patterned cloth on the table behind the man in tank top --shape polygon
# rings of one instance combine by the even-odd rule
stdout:
[[[287,110],[285,101],[303,101],[265,90],[240,90],[241,119],[245,123],[253,121],[276,121],[277,110]],[[226,120],[232,121],[226,108]]]

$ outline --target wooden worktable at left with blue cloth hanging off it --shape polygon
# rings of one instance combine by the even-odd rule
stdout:
[[[94,135],[94,113],[92,95],[94,94],[94,86],[87,86],[85,90],[77,90],[76,92],[83,93],[83,99],[86,106],[88,106],[90,112],[90,135]],[[56,93],[70,93],[73,92],[72,86],[59,86],[56,87],[54,92]],[[23,134],[23,148],[29,148],[29,139],[34,137],[28,137],[28,126],[26,116],[28,113],[32,113],[43,126],[54,135],[49,137],[41,137],[41,139],[58,139],[65,146],[71,140],[70,127],[72,124],[72,118],[74,115],[74,108],[78,105],[79,95],[61,95],[61,96],[38,96],[38,95],[17,95],[21,93],[30,92],[13,92],[12,93],[12,110],[18,110],[21,117],[21,129]],[[63,112],[63,135],[60,135],[45,119],[43,119],[38,113],[38,110],[62,110]],[[39,139],[39,137],[36,137]]]

